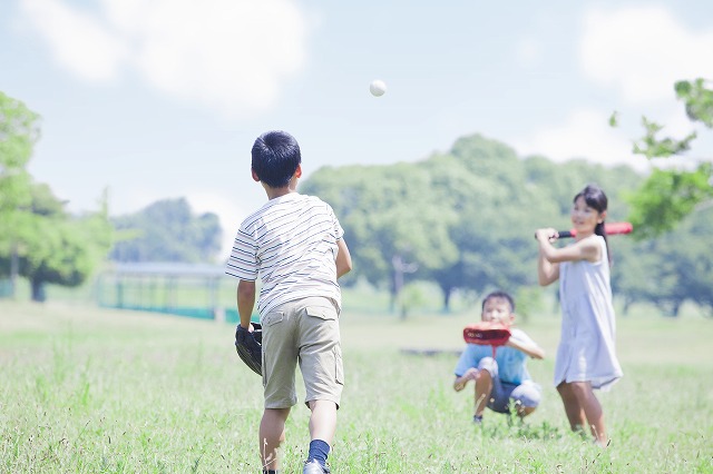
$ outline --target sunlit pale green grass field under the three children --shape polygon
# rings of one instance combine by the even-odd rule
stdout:
[[[538,411],[525,424],[486,412],[476,427],[472,388],[451,383],[477,312],[344,312],[333,472],[713,473],[713,320],[619,316],[625,376],[598,393],[612,437],[600,450],[569,432],[551,386],[555,314],[520,325],[548,353],[529,362],[544,387]],[[261,379],[235,354],[232,325],[0,302],[2,473],[257,473],[261,414]],[[307,419],[293,408],[285,473],[302,472]]]

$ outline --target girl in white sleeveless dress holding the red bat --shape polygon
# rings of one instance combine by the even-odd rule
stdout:
[[[555,386],[573,431],[585,425],[596,442],[608,443],[595,388],[608,389],[622,377],[615,352],[615,320],[609,285],[609,255],[604,231],[607,198],[587,186],[574,198],[574,244],[556,248],[554,228],[537,229],[537,274],[547,286],[559,279],[561,336],[555,361]]]

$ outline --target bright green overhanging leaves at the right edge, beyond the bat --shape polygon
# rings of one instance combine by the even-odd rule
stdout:
[[[675,83],[675,92],[685,105],[693,122],[713,128],[713,88],[705,79],[682,80]],[[680,166],[655,168],[641,188],[628,198],[632,204],[629,220],[637,229],[638,238],[654,237],[672,230],[697,207],[713,199],[712,157],[682,161],[696,134],[683,139],[660,138],[663,127],[643,118],[644,137],[634,144],[634,152],[648,158],[678,158]],[[693,161],[693,164],[692,164]]]

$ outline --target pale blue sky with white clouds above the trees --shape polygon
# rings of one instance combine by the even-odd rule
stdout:
[[[0,1],[0,91],[41,116],[36,180],[76,213],[105,189],[114,216],[186,197],[225,248],[266,200],[250,172],[264,131],[295,136],[307,178],[472,134],[646,172],[642,116],[696,130],[673,83],[713,79],[711,51],[707,0]],[[705,131],[695,147],[713,156]]]

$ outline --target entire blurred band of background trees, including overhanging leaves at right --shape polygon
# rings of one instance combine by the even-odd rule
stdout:
[[[711,127],[707,83],[677,83],[676,91],[692,120]],[[195,215],[183,198],[109,217],[105,192],[96,211],[67,213],[50,187],[27,171],[40,135],[38,119],[0,92],[0,277],[28,278],[32,298],[41,300],[43,285],[78,286],[107,259],[205,263],[225,257],[218,255],[217,216]],[[652,124],[644,119],[645,126]],[[658,130],[647,128],[634,151],[675,158],[695,138],[675,145],[656,138]],[[534,230],[568,228],[574,194],[596,182],[609,196],[608,220],[635,225],[632,236],[611,239],[615,292],[627,306],[652,302],[675,315],[686,300],[713,308],[710,179],[706,161],[642,176],[627,166],[522,158],[506,144],[472,135],[417,162],[324,167],[300,191],[320,196],[340,217],[355,264],[345,285],[367,280],[388,290],[395,307],[404,285],[431,282],[448,309],[456,292],[499,287],[518,293],[535,286]]]

